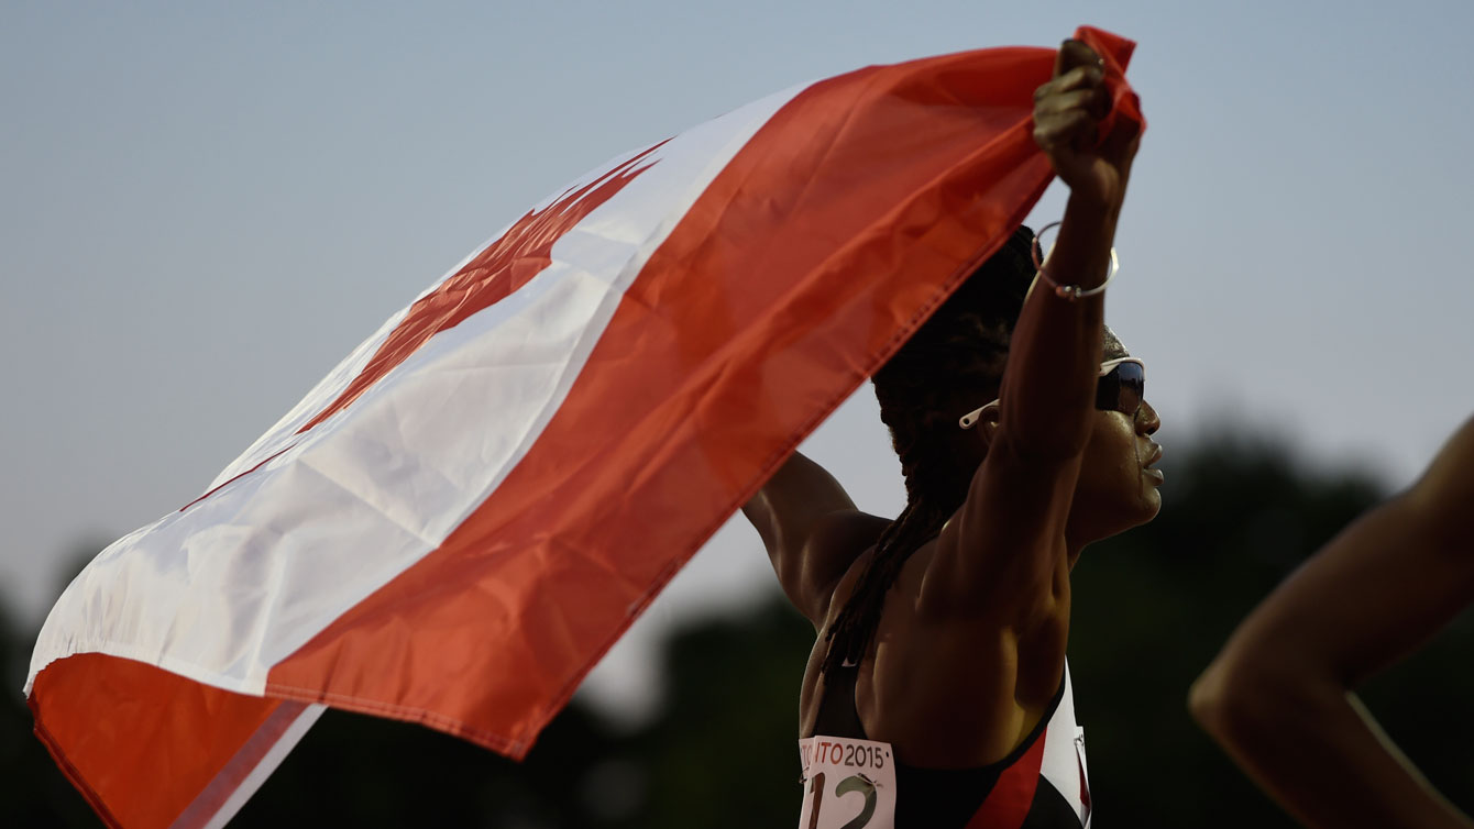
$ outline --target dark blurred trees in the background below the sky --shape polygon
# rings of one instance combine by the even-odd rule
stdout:
[[[1184,698],[1235,623],[1383,492],[1362,474],[1306,468],[1271,440],[1218,437],[1169,458],[1162,515],[1092,546],[1075,573],[1070,667],[1094,826],[1293,826],[1197,730]],[[649,722],[618,726],[575,699],[516,764],[420,726],[329,711],[233,826],[793,826],[812,630],[774,593],[669,638],[663,704]],[[15,691],[34,635],[3,627],[0,823],[96,826]],[[1465,614],[1362,692],[1465,811],[1470,654]]]

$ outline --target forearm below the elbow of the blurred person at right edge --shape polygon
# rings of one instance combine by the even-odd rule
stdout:
[[[1203,727],[1307,826],[1470,829],[1328,674],[1232,655],[1192,688]]]

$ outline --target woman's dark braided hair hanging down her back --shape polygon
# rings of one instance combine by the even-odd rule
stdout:
[[[952,411],[958,390],[996,398],[1008,342],[1033,280],[1033,231],[1020,227],[876,373],[880,420],[901,458],[907,508],[876,542],[876,552],[828,630],[822,673],[858,664],[880,623],[901,567],[963,505],[976,465],[949,446],[957,420],[988,396]]]

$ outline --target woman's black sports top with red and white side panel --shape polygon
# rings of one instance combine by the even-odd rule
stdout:
[[[858,666],[825,676],[814,733],[870,739],[855,710]],[[1070,670],[1039,724],[998,763],[918,769],[896,763],[896,829],[1082,829],[1089,826],[1085,738]]]

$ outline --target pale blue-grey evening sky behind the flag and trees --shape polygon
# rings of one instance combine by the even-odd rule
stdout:
[[[38,621],[78,542],[193,499],[579,172],[799,81],[1080,22],[1141,43],[1150,130],[1108,315],[1150,364],[1167,451],[1247,423],[1411,480],[1474,411],[1465,1],[10,0],[6,598]],[[899,507],[868,396],[809,448],[862,507]],[[641,627],[769,589],[755,545],[724,533]]]

